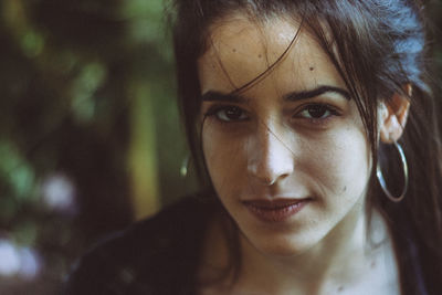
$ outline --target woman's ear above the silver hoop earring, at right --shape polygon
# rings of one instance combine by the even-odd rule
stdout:
[[[412,87],[407,84],[403,87],[404,94],[394,93],[391,99],[381,103],[380,140],[386,144],[397,141],[403,133],[410,108]]]

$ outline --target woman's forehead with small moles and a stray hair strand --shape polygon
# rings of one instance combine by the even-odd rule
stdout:
[[[265,78],[273,77],[274,86],[283,82],[298,88],[344,85],[317,41],[292,19],[273,17],[256,22],[239,13],[212,24],[207,44],[198,61],[202,93],[240,88],[276,61]]]

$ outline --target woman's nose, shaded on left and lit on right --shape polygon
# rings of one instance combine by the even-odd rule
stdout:
[[[294,154],[290,140],[284,139],[283,133],[275,133],[267,126],[262,126],[251,138],[248,172],[261,185],[272,186],[293,172]]]

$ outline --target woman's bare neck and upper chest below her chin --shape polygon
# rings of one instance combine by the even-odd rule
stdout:
[[[261,253],[239,233],[242,261],[239,277],[232,284],[224,282],[220,294],[227,294],[228,287],[234,289],[230,294],[330,294],[357,284],[381,260],[385,249],[390,249],[387,226],[380,214],[373,212],[375,234],[367,241],[366,214],[362,207],[358,210],[347,215],[318,244],[290,257]],[[225,239],[219,234],[219,222],[213,224],[211,236],[207,239],[206,249],[210,251],[204,261],[210,262],[206,265],[225,265]],[[201,271],[208,273],[207,267]]]

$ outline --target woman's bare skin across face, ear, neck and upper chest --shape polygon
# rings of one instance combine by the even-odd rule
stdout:
[[[231,95],[276,61],[298,25],[282,18],[263,25],[242,14],[212,25],[199,60],[202,145],[214,189],[240,230],[243,267],[233,287],[202,294],[398,294],[397,266],[386,241],[367,247],[365,199],[372,169],[369,143],[346,86],[314,39],[301,30],[284,59],[252,87]],[[294,94],[337,88],[303,99]],[[411,91],[411,89],[410,89]],[[380,108],[380,138],[397,140],[408,104]],[[283,220],[262,220],[249,201],[302,201]],[[207,265],[225,262],[214,219]],[[389,263],[379,263],[382,260]],[[202,267],[204,268],[204,267]],[[371,277],[367,285],[367,277]],[[365,283],[364,283],[365,282]],[[344,287],[345,286],[345,287]]]

